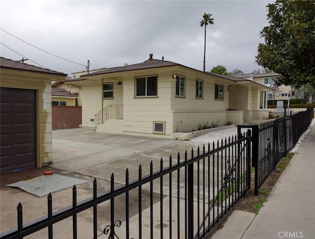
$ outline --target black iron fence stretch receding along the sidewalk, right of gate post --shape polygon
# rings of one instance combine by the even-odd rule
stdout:
[[[254,193],[275,170],[277,164],[297,143],[314,118],[314,108],[281,117],[252,128],[252,165],[255,167]]]

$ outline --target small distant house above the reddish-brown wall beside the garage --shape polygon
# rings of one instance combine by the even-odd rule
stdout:
[[[62,88],[51,89],[51,103],[53,106],[76,106],[78,96]]]

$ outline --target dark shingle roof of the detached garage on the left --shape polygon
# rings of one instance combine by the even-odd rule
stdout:
[[[1,68],[18,69],[18,70],[35,71],[35,72],[49,73],[49,74],[57,74],[57,75],[66,75],[63,72],[59,72],[59,71],[56,71],[56,70],[51,70],[51,69],[48,69],[48,68],[36,67],[36,66],[29,65],[29,64],[26,64],[26,63],[13,61],[11,59],[7,59],[7,58],[4,58],[4,57],[0,57],[0,67]]]

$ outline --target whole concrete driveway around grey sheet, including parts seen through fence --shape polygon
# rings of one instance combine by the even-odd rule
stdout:
[[[95,133],[93,129],[85,128],[53,131],[52,165],[42,169],[30,169],[1,174],[0,232],[3,233],[16,227],[16,206],[19,202],[23,205],[23,221],[25,223],[47,214],[46,197],[39,198],[20,189],[6,187],[5,184],[29,179],[42,175],[43,171],[52,170],[55,173],[88,181],[77,185],[78,202],[80,202],[93,196],[94,178],[97,178],[97,193],[103,193],[110,190],[110,178],[112,173],[114,173],[115,187],[117,187],[121,184],[125,184],[125,171],[127,168],[129,171],[129,181],[135,180],[138,178],[140,164],[142,167],[142,176],[145,176],[150,173],[151,161],[153,162],[153,171],[159,171],[161,158],[163,158],[163,166],[166,168],[169,167],[170,164],[170,155],[172,155],[172,164],[176,164],[178,152],[181,154],[181,161],[183,161],[185,159],[185,151],[188,151],[188,158],[190,158],[191,149],[194,149],[196,155],[198,146],[200,146],[202,150],[203,142]],[[197,171],[197,169],[195,168],[194,171]],[[196,174],[197,173],[195,173],[195,176]],[[182,175],[184,175],[183,172],[181,172],[180,182],[177,183],[177,172],[175,171],[172,174],[171,188],[173,189],[172,196],[177,197],[177,187],[179,185],[180,198],[182,198],[181,206],[183,207],[185,181]],[[166,202],[169,202],[169,185],[169,176],[165,175],[163,177],[163,197],[166,197],[164,198]],[[146,222],[147,224],[150,218],[149,187],[149,184],[145,184],[142,187],[143,223]],[[155,208],[158,208],[159,204],[159,190],[160,186],[158,180],[154,183],[155,193],[153,195],[153,203],[156,205]],[[207,192],[208,191],[205,193]],[[54,212],[72,204],[72,188],[54,192],[52,195]],[[196,195],[197,191],[194,194],[195,199],[197,198]],[[172,197],[172,200],[174,199],[176,203],[175,197]],[[205,200],[207,202],[208,198],[206,197]],[[109,203],[110,202],[105,202],[97,206],[100,211],[98,214],[98,231],[100,238],[102,238],[102,230],[105,224],[108,224],[110,221]],[[125,217],[125,208],[122,208],[124,204],[125,195],[121,195],[115,199],[115,216],[117,216],[117,218],[123,219]],[[129,195],[130,225],[132,221],[137,225],[137,205],[138,190],[134,189],[130,191]],[[185,208],[183,207],[182,209],[184,210]],[[167,211],[168,209],[165,208],[165,210]],[[158,227],[159,210],[155,214],[157,216],[155,224]],[[167,218],[165,218],[165,220],[166,219]],[[81,238],[91,238],[91,232],[93,231],[92,221],[92,208],[86,210],[85,213],[78,214],[78,225],[81,225],[78,234],[80,234]],[[72,230],[68,230],[69,228],[72,228],[72,220],[70,218],[63,220],[61,223],[57,223],[54,225],[54,234],[58,232],[60,233],[60,237],[56,235],[54,238],[71,238]],[[30,238],[47,238],[47,230],[41,230],[33,234]]]

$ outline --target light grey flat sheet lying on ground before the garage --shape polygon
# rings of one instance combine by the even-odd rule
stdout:
[[[41,175],[28,180],[11,183],[5,186],[20,188],[28,193],[43,197],[74,185],[88,182],[86,180],[67,177],[59,174]]]

